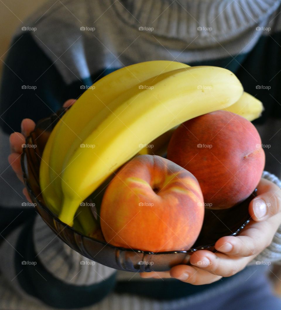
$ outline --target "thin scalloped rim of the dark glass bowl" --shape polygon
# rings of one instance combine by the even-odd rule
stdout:
[[[65,109],[66,110],[66,109]],[[39,127],[39,125],[46,121],[47,119],[50,119],[52,116],[57,116],[56,113],[52,113],[49,117],[44,117],[42,119],[40,119],[36,125],[35,125],[35,128],[33,131],[30,132],[30,134],[26,137],[25,139],[25,144],[29,144],[29,140],[32,139],[33,141],[33,137],[32,137],[32,134],[36,132],[36,129]],[[26,150],[28,148],[23,148],[23,151],[22,151],[22,154],[21,154],[21,158],[20,158],[20,163],[21,163],[21,169],[22,169],[22,173],[23,173],[23,179],[24,179],[24,185],[26,186],[29,194],[32,195],[31,198],[33,198],[35,201],[36,201],[36,206],[35,206],[35,209],[37,210],[37,205],[40,205],[40,207],[45,211],[47,212],[51,218],[53,219],[53,221],[56,221],[58,222],[60,225],[64,226],[64,228],[62,230],[64,230],[65,228],[68,228],[70,230],[72,230],[73,233],[77,234],[77,235],[80,235],[82,238],[87,238],[87,239],[90,239],[90,240],[94,240],[95,242],[98,242],[104,246],[110,246],[116,250],[122,250],[122,251],[130,251],[130,252],[134,252],[134,253],[142,253],[144,255],[161,255],[161,254],[178,254],[178,253],[193,253],[195,251],[198,251],[198,250],[206,250],[206,249],[209,249],[210,247],[213,247],[215,245],[215,243],[211,243],[211,244],[208,244],[208,245],[205,245],[205,246],[198,246],[198,247],[195,247],[195,248],[190,248],[189,250],[173,250],[173,251],[159,251],[159,252],[152,252],[152,251],[144,251],[144,250],[139,250],[139,249],[132,249],[132,248],[124,248],[124,247],[119,247],[119,246],[114,246],[106,241],[102,241],[102,240],[99,240],[99,239],[96,239],[94,237],[90,237],[90,236],[86,236],[84,234],[82,234],[81,232],[78,232],[77,230],[75,230],[74,228],[72,228],[71,226],[69,226],[68,224],[62,222],[51,210],[48,209],[47,206],[45,206],[41,200],[37,199],[37,197],[35,196],[34,192],[33,192],[33,189],[31,187],[31,184],[29,183],[29,179],[28,179],[28,173],[25,169],[25,165],[24,165],[24,161],[25,161],[25,158],[27,158],[27,155],[26,155]],[[27,159],[26,159],[27,160]],[[40,188],[40,184],[39,185],[39,188]],[[40,188],[41,190],[41,188]],[[257,189],[254,190],[254,192],[256,192]],[[42,193],[42,192],[41,192]],[[252,195],[252,193],[251,193]],[[32,199],[32,200],[33,200]],[[246,198],[247,199],[247,198]],[[38,211],[38,210],[37,210]],[[38,213],[38,212],[37,212]],[[38,213],[39,214],[39,213]],[[39,216],[41,216],[39,214]],[[44,220],[45,221],[45,220]],[[229,234],[228,236],[236,236],[241,229],[243,229],[248,223],[249,223],[250,219],[248,219],[247,221],[244,222],[243,225],[241,225],[234,233],[231,233]],[[46,221],[45,221],[46,222]],[[46,223],[48,224],[48,223]],[[49,225],[49,224],[48,224]],[[49,225],[50,226],[50,225]],[[61,231],[62,231],[61,230]],[[57,232],[57,236],[59,235],[60,232]],[[196,239],[197,240],[197,239]],[[195,240],[195,242],[196,242]],[[194,243],[195,244],[195,243]]]

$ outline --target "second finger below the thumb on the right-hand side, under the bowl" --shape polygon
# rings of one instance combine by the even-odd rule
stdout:
[[[215,276],[230,277],[241,271],[254,256],[236,257],[199,250],[190,257],[190,263]]]

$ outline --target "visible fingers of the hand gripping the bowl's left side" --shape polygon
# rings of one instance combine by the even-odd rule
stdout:
[[[69,99],[65,101],[63,107],[67,108],[71,106],[75,101],[76,101],[75,99]],[[10,135],[11,154],[8,156],[8,162],[22,183],[24,183],[22,170],[21,170],[21,164],[20,164],[20,156],[22,154],[22,144],[25,143],[26,137],[29,136],[30,132],[32,132],[34,128],[35,128],[35,123],[33,122],[33,120],[29,118],[25,118],[21,122],[21,133],[14,132]],[[26,199],[29,202],[32,202],[26,188],[23,189],[23,193]]]

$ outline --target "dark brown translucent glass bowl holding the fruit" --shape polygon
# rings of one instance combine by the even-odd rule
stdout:
[[[42,153],[50,132],[64,114],[61,108],[56,114],[40,120],[27,137],[21,157],[24,183],[35,204],[35,209],[54,233],[81,255],[111,268],[149,272],[166,271],[178,264],[188,264],[190,255],[201,249],[215,251],[215,242],[223,236],[235,236],[250,220],[248,205],[256,196],[255,190],[245,201],[230,209],[205,209],[203,227],[193,247],[188,251],[147,252],[112,246],[105,241],[87,237],[61,222],[44,203],[39,186],[39,167]],[[36,147],[35,147],[36,145]],[[33,147],[31,147],[33,146]]]

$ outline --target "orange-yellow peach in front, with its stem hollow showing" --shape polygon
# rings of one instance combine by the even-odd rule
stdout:
[[[204,218],[196,178],[156,155],[126,163],[108,185],[100,211],[105,240],[150,252],[189,250]]]

